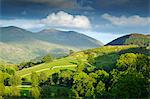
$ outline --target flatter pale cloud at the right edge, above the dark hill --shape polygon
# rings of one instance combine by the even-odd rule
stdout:
[[[150,25],[150,17],[140,17],[138,15],[133,16],[112,16],[108,13],[105,13],[101,16],[102,18],[108,20],[113,25],[117,26],[146,26]]]

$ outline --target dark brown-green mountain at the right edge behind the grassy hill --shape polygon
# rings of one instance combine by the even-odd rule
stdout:
[[[129,34],[119,37],[106,45],[138,45],[150,46],[150,35]]]

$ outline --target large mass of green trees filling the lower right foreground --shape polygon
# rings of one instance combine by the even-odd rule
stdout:
[[[61,70],[59,73],[52,74],[43,84],[44,87],[59,85],[70,88],[70,91],[64,94],[70,98],[148,97],[150,91],[148,56],[133,53],[122,54],[111,71],[105,71],[103,68],[96,69],[92,65],[95,63],[94,60],[88,60],[88,63],[79,60],[76,71]],[[42,92],[48,90],[48,87],[46,89],[44,87],[41,86]]]

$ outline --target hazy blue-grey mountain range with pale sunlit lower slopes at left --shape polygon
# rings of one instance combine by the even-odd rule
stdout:
[[[45,29],[30,32],[18,27],[0,27],[0,60],[18,63],[51,53],[64,56],[69,50],[102,46],[100,41],[74,31]]]

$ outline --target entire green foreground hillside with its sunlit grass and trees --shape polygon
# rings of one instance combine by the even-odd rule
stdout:
[[[135,45],[103,46],[21,70],[1,63],[0,84],[8,98],[146,98],[149,52]]]

